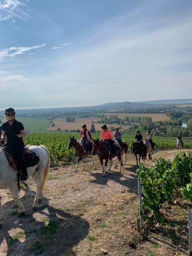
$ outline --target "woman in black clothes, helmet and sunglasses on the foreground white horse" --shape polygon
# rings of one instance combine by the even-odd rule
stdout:
[[[7,141],[6,145],[12,148],[13,157],[17,161],[17,169],[21,170],[21,181],[27,180],[26,158],[24,154],[23,137],[26,136],[21,122],[15,119],[15,109],[6,108],[5,117],[7,122],[2,125],[2,136]]]

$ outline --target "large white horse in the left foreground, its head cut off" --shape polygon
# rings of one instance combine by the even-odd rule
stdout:
[[[33,167],[27,168],[28,177],[32,177],[37,184],[37,192],[34,199],[34,204],[32,209],[36,211],[38,209],[37,204],[42,202],[42,189],[45,186],[47,177],[49,175],[50,166],[50,156],[49,151],[44,145],[28,146],[32,151],[34,151],[39,157],[39,163]],[[12,193],[13,200],[18,205],[18,217],[22,217],[25,214],[25,209],[23,204],[21,204],[17,189],[17,172],[12,169],[7,160],[5,151],[0,148],[0,189],[9,189]],[[1,208],[1,197],[0,197],[0,227],[2,227],[3,212]]]

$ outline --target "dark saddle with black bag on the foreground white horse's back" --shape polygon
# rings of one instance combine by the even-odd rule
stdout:
[[[6,157],[9,161],[9,165],[17,171],[17,161],[14,160],[13,153],[12,153],[12,148],[10,146],[3,147]],[[32,167],[35,166],[39,163],[39,157],[36,155],[35,152],[33,152],[30,148],[25,146],[25,157],[26,157],[26,166],[27,167]]]

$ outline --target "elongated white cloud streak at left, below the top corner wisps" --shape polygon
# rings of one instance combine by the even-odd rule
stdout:
[[[3,51],[0,52],[0,61],[2,61],[3,58],[6,58],[7,56],[15,57],[16,55],[20,55],[27,51],[38,49],[44,46],[46,46],[46,44],[41,44],[41,45],[32,46],[32,47],[20,46],[20,47],[10,47],[9,49],[4,49]]]

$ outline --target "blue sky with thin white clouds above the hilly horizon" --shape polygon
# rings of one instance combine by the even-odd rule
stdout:
[[[191,0],[0,0],[0,109],[192,98]]]

